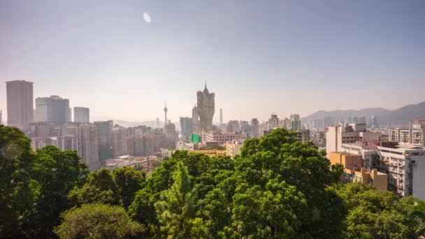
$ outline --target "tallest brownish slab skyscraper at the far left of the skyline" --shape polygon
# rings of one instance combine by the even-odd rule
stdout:
[[[8,126],[28,129],[34,120],[34,82],[13,80],[6,82]]]

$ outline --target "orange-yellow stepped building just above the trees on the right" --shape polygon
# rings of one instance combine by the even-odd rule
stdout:
[[[388,175],[378,172],[376,168],[370,171],[367,168],[362,168],[363,159],[361,155],[346,152],[331,152],[329,154],[329,160],[331,164],[341,164],[344,166],[344,173],[341,175],[343,182],[370,183],[378,190],[388,189]]]

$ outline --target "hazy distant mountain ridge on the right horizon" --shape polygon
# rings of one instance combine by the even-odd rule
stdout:
[[[377,117],[379,124],[408,124],[416,115],[425,118],[425,101],[417,105],[408,105],[395,110],[387,110],[384,108],[365,108],[362,110],[319,110],[311,115],[301,118],[303,122],[310,119],[321,119],[323,117],[352,117],[364,116],[367,118],[374,115]]]

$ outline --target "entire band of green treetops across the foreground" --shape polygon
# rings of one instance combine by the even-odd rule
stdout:
[[[245,141],[234,159],[177,151],[147,176],[129,167],[88,174],[75,152],[33,152],[29,143],[17,129],[0,126],[1,238],[419,238],[425,232],[423,201],[340,184],[340,166],[284,129]]]

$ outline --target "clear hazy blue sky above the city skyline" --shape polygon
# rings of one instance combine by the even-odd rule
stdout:
[[[0,0],[0,109],[8,80],[91,119],[164,120],[166,101],[175,122],[205,82],[214,122],[394,109],[425,101],[424,26],[423,0]]]

